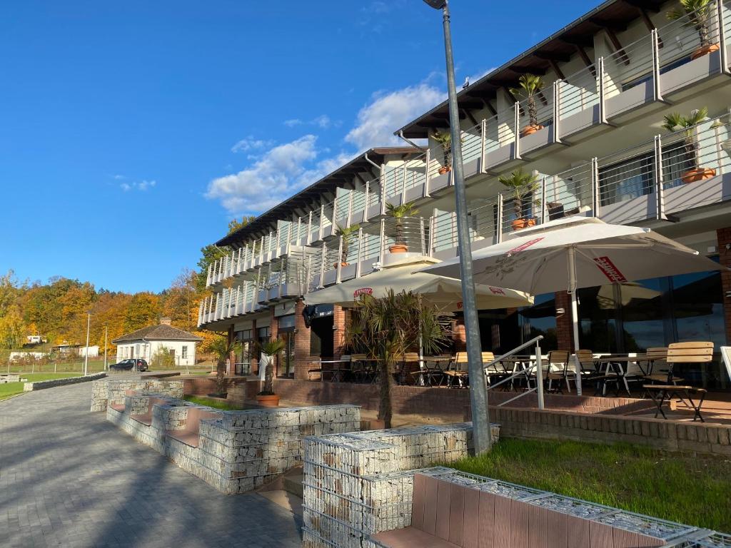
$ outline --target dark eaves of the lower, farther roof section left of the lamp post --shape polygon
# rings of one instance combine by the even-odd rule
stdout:
[[[417,153],[420,154],[422,151],[419,148],[406,146],[371,148],[368,151],[359,154],[347,164],[338,167],[338,169],[332,173],[325,175],[325,177],[311,184],[306,189],[303,189],[294,196],[287,198],[284,202],[275,205],[266,213],[262,213],[260,216],[255,218],[254,221],[246,224],[246,226],[232,232],[230,235],[222,237],[221,240],[216,242],[216,246],[230,246],[232,243],[245,240],[246,237],[251,234],[267,229],[270,223],[278,221],[283,216],[289,215],[293,208],[306,208],[312,202],[317,201],[323,192],[333,192],[338,188],[338,186],[343,186],[345,183],[349,183],[353,175],[357,173],[368,172],[371,175],[371,178],[378,177],[379,174],[374,174],[372,172],[375,169],[375,166],[371,164],[370,161],[373,161],[376,164],[381,164],[384,161],[385,156],[390,154],[410,156]]]

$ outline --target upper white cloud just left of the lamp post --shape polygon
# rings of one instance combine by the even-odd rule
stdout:
[[[374,146],[398,145],[393,134],[404,124],[444,101],[446,94],[427,82],[397,91],[379,91],[360,109],[357,124],[345,136],[361,151]]]

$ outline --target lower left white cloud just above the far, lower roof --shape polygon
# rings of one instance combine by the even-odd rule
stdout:
[[[205,196],[218,199],[231,213],[268,210],[317,179],[316,142],[308,134],[270,148],[245,170],[213,179]]]

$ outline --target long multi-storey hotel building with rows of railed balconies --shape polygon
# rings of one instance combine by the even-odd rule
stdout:
[[[460,92],[474,248],[584,215],[651,227],[731,266],[731,7],[711,2],[670,20],[674,7],[606,1]],[[515,96],[526,74],[544,85]],[[662,128],[665,115],[704,107],[707,119],[691,128]],[[344,311],[322,311],[308,325],[300,297],[393,259],[387,204],[413,202],[419,212],[400,227],[409,252],[457,254],[449,157],[434,139],[448,124],[444,102],[394,128],[428,145],[368,151],[220,240],[233,251],[208,272],[213,295],[200,325],[241,340],[284,337],[279,376],[307,378],[311,356],[338,356]],[[518,168],[536,175],[528,194],[499,182]],[[338,235],[336,227],[355,226]],[[731,342],[731,273],[608,284],[581,289],[579,299],[582,346],[594,351]],[[569,314],[565,292],[537,295],[526,309],[481,311],[482,345],[497,353],[542,333],[548,349],[571,349]],[[683,373],[697,386],[729,387],[720,360]]]

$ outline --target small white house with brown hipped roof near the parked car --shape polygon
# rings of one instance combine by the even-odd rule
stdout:
[[[195,365],[195,346],[202,338],[170,325],[170,319],[163,318],[159,325],[143,327],[127,335],[115,338],[117,361],[128,358],[143,358],[148,363],[159,352],[170,354],[176,366]]]

